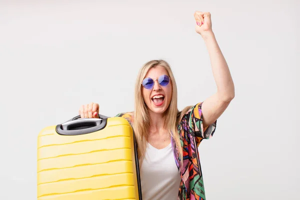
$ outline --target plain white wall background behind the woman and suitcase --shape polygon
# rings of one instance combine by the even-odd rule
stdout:
[[[209,11],[235,98],[199,146],[206,198],[299,199],[298,0],[0,0],[0,199],[36,199],[36,139],[97,102],[133,110],[138,69],[165,59],[178,108],[216,91],[194,31]]]

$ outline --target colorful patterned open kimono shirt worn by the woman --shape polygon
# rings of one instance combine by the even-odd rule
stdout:
[[[203,139],[210,138],[216,127],[216,121],[208,127],[202,124],[202,102],[192,106],[183,115],[177,125],[180,135],[181,148],[183,149],[183,164],[179,166],[179,151],[174,138],[171,139],[175,162],[181,176],[178,190],[178,200],[205,200],[204,184],[199,160],[198,145]],[[126,118],[133,122],[131,113],[119,113],[116,116]]]

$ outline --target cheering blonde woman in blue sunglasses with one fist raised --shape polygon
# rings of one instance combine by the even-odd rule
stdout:
[[[132,125],[138,146],[143,199],[205,199],[197,147],[210,138],[217,118],[234,97],[226,61],[211,29],[209,12],[196,11],[195,30],[205,41],[217,91],[194,106],[177,109],[168,63],[151,60],[139,71],[134,111],[119,113]],[[81,105],[81,117],[97,117],[99,105]],[[178,189],[179,188],[179,189]]]

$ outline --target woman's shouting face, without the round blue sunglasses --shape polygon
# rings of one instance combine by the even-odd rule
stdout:
[[[168,84],[162,86],[158,83],[158,77],[161,75],[168,76],[168,73],[164,67],[152,67],[148,70],[144,78],[152,78],[154,80],[153,86],[147,89],[141,85],[143,100],[146,103],[148,110],[154,113],[163,113],[169,106],[172,98],[171,79],[169,79]],[[167,77],[165,77],[165,79],[167,79]]]

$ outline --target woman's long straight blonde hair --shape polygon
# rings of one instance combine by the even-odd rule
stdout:
[[[167,130],[169,130],[169,136],[172,136],[175,140],[176,146],[178,148],[179,160],[182,164],[182,147],[180,142],[180,137],[177,132],[176,126],[180,119],[182,118],[185,110],[188,107],[185,107],[181,112],[177,109],[177,87],[176,82],[172,73],[172,70],[169,64],[164,60],[150,60],[146,62],[139,70],[139,73],[136,78],[135,89],[134,89],[134,122],[133,122],[133,130],[136,137],[136,142],[138,146],[138,158],[144,157],[146,142],[148,138],[148,130],[150,126],[150,118],[148,114],[148,110],[146,104],[143,100],[141,93],[141,82],[148,70],[152,67],[162,66],[167,71],[172,84],[172,98],[169,106],[166,109],[165,121],[164,125]]]

